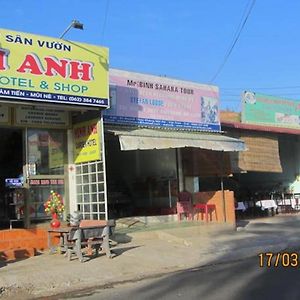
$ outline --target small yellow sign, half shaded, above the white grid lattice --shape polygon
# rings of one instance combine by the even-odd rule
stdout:
[[[91,120],[74,125],[74,162],[88,162],[101,158],[100,125]]]

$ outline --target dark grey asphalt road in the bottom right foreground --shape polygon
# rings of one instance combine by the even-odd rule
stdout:
[[[300,299],[300,265],[274,267],[273,261],[272,267],[268,268],[266,261],[263,263],[264,267],[259,267],[259,258],[253,257],[112,288],[65,295],[59,299]],[[292,264],[292,260],[287,264]]]

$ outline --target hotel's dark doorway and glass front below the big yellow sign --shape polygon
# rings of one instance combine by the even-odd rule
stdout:
[[[44,202],[51,190],[61,194],[64,199],[67,195],[65,166],[68,129],[61,125],[55,126],[55,122],[46,126],[44,119],[51,114],[66,123],[69,113],[53,108],[38,109],[22,105],[11,107],[2,104],[1,107],[7,108],[10,114],[16,116],[11,120],[11,125],[6,124],[6,127],[0,129],[1,227],[23,227],[25,215],[28,216],[27,222],[29,218],[31,222],[49,218],[44,211]],[[39,115],[39,122],[45,126],[34,126],[31,122],[27,122],[29,127],[22,125],[22,121],[31,113],[35,114],[31,120]]]

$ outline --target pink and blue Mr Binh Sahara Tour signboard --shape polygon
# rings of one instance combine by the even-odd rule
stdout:
[[[110,69],[106,123],[220,131],[216,86]]]

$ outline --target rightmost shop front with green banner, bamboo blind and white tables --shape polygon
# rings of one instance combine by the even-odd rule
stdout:
[[[299,104],[245,92],[242,114],[224,112],[222,127],[245,141],[248,151],[234,154],[233,176],[241,216],[297,212],[299,206]],[[297,196],[298,194],[298,196]]]

